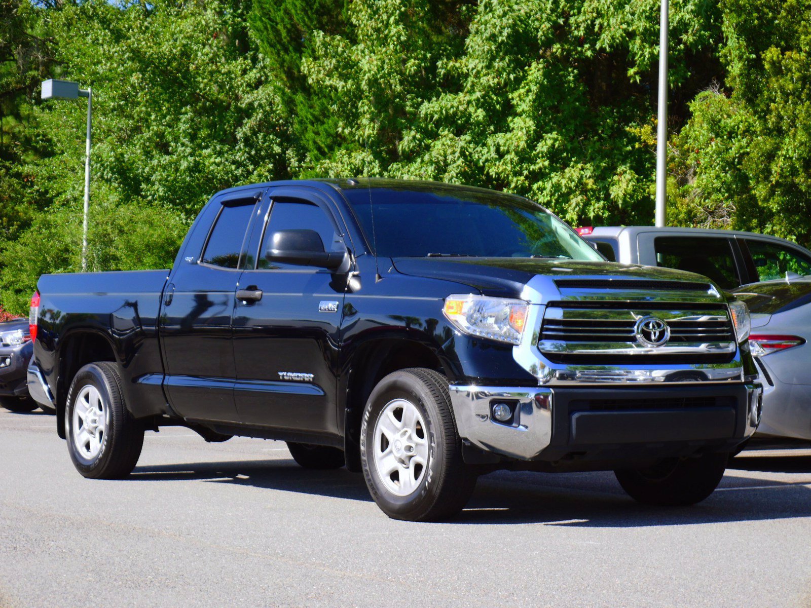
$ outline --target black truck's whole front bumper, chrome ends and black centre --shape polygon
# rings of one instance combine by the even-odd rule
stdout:
[[[555,462],[732,452],[760,422],[759,384],[658,387],[451,385],[459,435],[485,452]],[[497,422],[492,406],[513,409]]]

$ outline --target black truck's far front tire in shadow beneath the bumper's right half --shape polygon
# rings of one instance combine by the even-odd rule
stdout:
[[[700,503],[718,487],[727,469],[727,454],[663,460],[648,469],[614,471],[620,486],[639,503],[684,506]]]

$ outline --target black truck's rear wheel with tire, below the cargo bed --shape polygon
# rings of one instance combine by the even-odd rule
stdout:
[[[84,477],[121,479],[138,463],[144,426],[124,404],[121,386],[118,369],[111,362],[89,363],[71,382],[65,406],[67,450]]]

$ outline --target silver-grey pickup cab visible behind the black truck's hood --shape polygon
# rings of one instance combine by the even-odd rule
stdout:
[[[612,262],[697,272],[709,276],[722,289],[811,275],[811,251],[765,234],[654,226],[579,230]]]

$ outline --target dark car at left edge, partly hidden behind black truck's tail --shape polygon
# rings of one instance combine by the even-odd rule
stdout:
[[[32,412],[40,406],[28,396],[26,370],[32,352],[28,319],[0,323],[0,405],[12,412]]]

